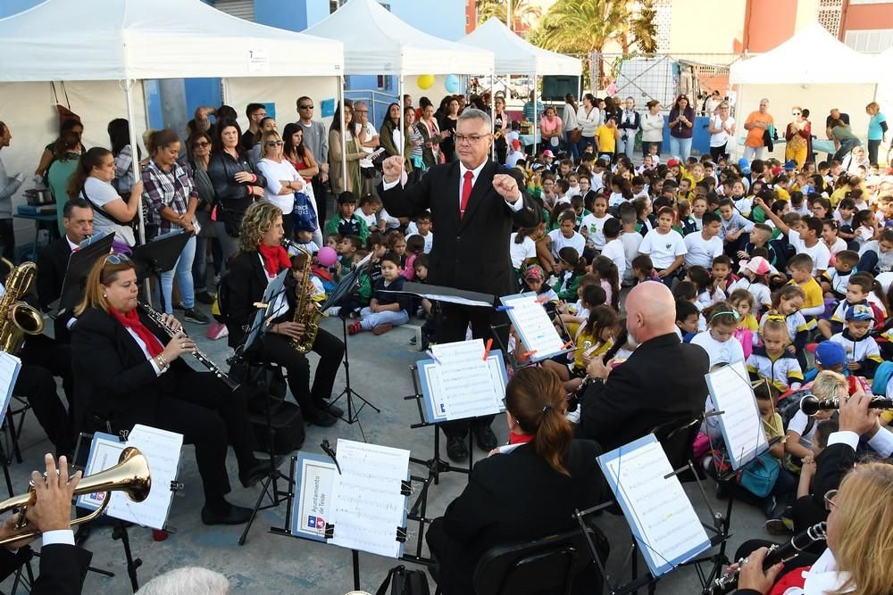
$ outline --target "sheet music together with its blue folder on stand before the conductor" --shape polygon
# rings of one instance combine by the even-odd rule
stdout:
[[[431,346],[433,359],[416,362],[425,418],[429,423],[481,417],[505,411],[508,384],[502,351],[484,360],[482,339]]]

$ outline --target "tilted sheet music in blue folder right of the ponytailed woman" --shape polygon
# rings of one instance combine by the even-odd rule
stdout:
[[[597,460],[651,574],[666,574],[710,549],[704,525],[655,434]]]

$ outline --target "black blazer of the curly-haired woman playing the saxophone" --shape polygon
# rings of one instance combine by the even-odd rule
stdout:
[[[266,291],[269,281],[263,271],[263,264],[258,252],[238,252],[230,258],[227,272],[227,288],[230,292],[229,310],[227,313],[227,328],[230,331],[228,341],[230,347],[238,347],[254,324],[255,302],[260,302],[263,292]],[[294,277],[286,277],[286,296],[288,299],[288,313],[277,318],[285,320],[289,317],[294,304]]]

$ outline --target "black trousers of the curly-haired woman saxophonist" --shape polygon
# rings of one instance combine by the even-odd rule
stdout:
[[[268,333],[263,336],[263,357],[279,364],[288,372],[288,388],[304,417],[313,417],[331,398],[332,386],[341,359],[344,358],[344,343],[337,336],[320,329],[313,342],[313,351],[320,356],[310,388],[310,361],[303,353],[298,353],[288,343],[288,337]]]

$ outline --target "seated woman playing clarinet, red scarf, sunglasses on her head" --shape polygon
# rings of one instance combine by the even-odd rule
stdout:
[[[75,309],[71,329],[80,431],[118,435],[135,424],[183,434],[196,446],[196,463],[204,487],[202,522],[239,525],[250,508],[230,504],[226,470],[227,445],[238,460],[238,478],[245,487],[257,483],[269,463],[255,459],[245,394],[230,392],[210,372],[196,372],[181,359],[196,349],[179,321],[164,315],[178,329],[172,337],[138,308],[134,265],[124,255],[96,260],[87,277],[84,298]]]

